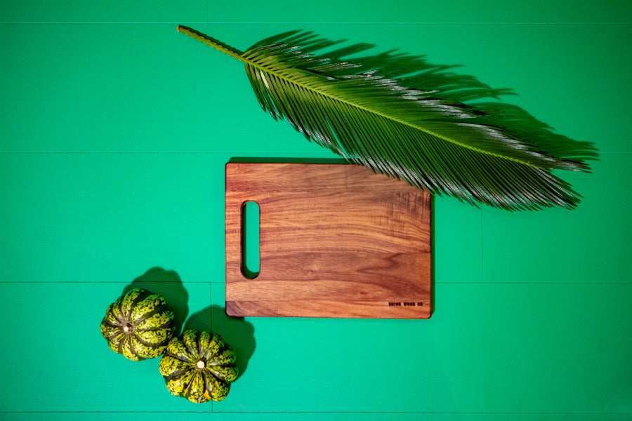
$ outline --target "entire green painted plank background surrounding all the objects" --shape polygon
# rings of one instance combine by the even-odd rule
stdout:
[[[3,1],[0,419],[630,420],[624,4]],[[572,211],[435,199],[429,320],[229,319],[225,163],[333,154],[177,24],[239,49],[312,29],[462,65],[600,160],[561,174],[584,196]],[[134,280],[237,349],[227,399],[175,398],[157,360],[108,349],[98,324]]]

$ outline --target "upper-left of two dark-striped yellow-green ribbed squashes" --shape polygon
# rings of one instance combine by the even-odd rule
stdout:
[[[132,361],[161,356],[174,328],[173,312],[164,297],[143,288],[121,295],[101,321],[107,345]]]

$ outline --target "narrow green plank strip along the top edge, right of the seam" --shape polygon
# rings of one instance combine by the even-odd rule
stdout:
[[[384,4],[381,1],[332,1],[301,6],[282,0],[270,0],[263,7],[239,4],[235,7],[209,3],[209,22],[630,22],[628,4],[606,1],[489,0],[415,0]]]

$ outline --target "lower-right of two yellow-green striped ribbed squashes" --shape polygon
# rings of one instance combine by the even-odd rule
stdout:
[[[238,373],[235,352],[220,335],[199,330],[173,338],[159,370],[171,394],[195,403],[224,399]]]

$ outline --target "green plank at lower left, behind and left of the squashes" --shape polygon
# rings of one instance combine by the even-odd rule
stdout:
[[[0,350],[10,364],[0,384],[3,412],[211,410],[171,396],[157,359],[129,361],[107,347],[99,323],[129,283],[0,283],[11,298],[0,307],[0,335],[11,338]],[[209,283],[180,288],[187,313],[210,300]]]

